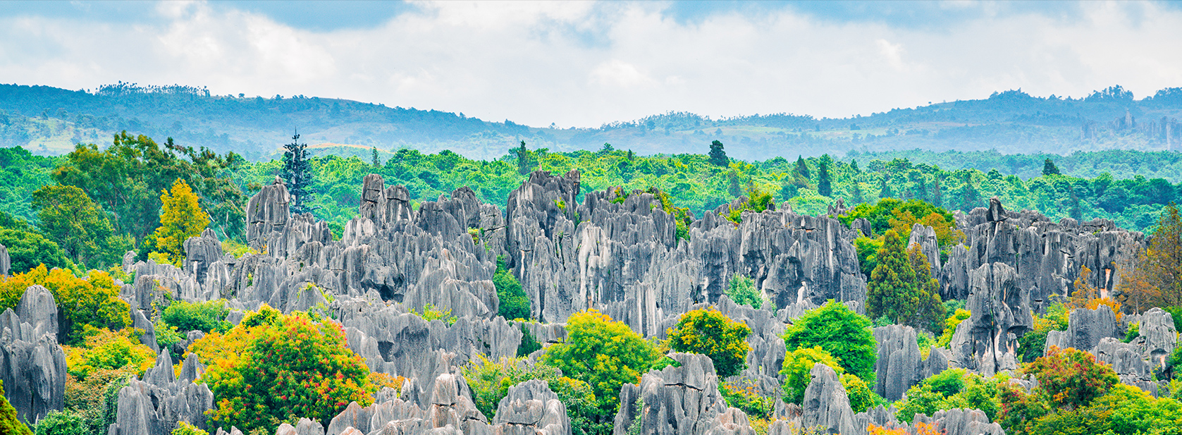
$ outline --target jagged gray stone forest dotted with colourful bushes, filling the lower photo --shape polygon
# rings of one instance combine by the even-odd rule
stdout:
[[[1167,294],[1177,291],[1144,272],[1177,270],[1147,254],[1178,258],[1173,207],[1150,235],[996,197],[907,220],[902,210],[924,203],[838,200],[813,216],[753,190],[696,218],[658,189],[587,190],[578,170],[537,170],[505,203],[468,187],[415,202],[372,174],[335,235],[296,213],[275,176],[249,197],[234,252],[197,228],[156,239],[178,257],[131,251],[78,278],[9,271],[0,246],[0,424],[96,435],[1182,430],[1171,398],[1182,311]],[[888,206],[885,218],[875,210]]]

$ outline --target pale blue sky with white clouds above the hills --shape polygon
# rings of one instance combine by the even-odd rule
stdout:
[[[0,83],[346,98],[599,126],[668,111],[847,117],[1021,89],[1182,86],[1182,4],[0,4]]]

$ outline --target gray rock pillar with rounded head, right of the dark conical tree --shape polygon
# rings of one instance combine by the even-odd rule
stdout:
[[[1019,287],[1014,268],[1001,262],[981,265],[969,275],[966,309],[973,316],[956,326],[952,362],[986,376],[1018,369],[1018,337],[1034,322],[1030,292]]]

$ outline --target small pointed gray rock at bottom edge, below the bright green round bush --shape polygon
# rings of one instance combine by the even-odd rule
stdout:
[[[857,434],[853,427],[853,410],[850,409],[850,397],[845,387],[838,379],[837,372],[829,365],[813,365],[812,381],[805,389],[801,408],[801,424],[805,428],[820,426],[831,434]]]

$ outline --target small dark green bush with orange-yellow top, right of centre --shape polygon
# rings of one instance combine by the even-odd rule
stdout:
[[[747,336],[751,327],[734,322],[714,307],[693,310],[669,329],[669,346],[678,352],[710,357],[719,377],[739,375],[747,368]]]

